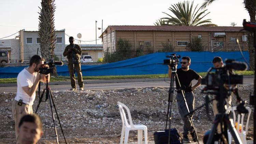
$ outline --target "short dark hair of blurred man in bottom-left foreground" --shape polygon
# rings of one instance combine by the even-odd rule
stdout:
[[[37,114],[24,115],[19,121],[19,128],[24,122],[34,123],[40,130],[43,130],[41,118]]]

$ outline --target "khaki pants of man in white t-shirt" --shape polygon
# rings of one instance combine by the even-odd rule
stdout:
[[[33,114],[32,105],[22,104],[18,105],[18,102],[16,100],[13,100],[12,102],[12,116],[15,121],[15,134],[16,134],[16,140],[18,138],[18,126],[20,119],[26,115],[26,114]]]

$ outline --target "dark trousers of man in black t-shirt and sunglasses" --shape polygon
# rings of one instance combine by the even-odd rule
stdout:
[[[189,112],[193,111],[194,107],[195,107],[194,93],[193,92],[186,92],[185,93],[185,98],[186,98],[186,101],[187,101]],[[182,120],[184,122],[183,136],[187,136],[188,131],[193,132],[193,126],[192,126],[192,123],[189,120],[189,117],[188,116],[184,117],[184,115],[186,115],[188,113],[188,111],[187,111],[186,104],[183,100],[182,93],[177,93],[177,103],[178,103],[178,108],[179,108],[180,115],[181,115]],[[193,115],[192,115],[192,117],[193,117]]]

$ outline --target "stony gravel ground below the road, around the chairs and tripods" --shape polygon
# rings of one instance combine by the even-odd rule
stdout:
[[[204,103],[205,94],[200,93],[203,87],[195,90],[195,107]],[[239,93],[243,100],[249,101],[253,85],[239,85]],[[68,143],[119,143],[122,121],[118,111],[117,101],[126,104],[132,115],[134,124],[143,124],[148,128],[148,141],[154,142],[153,133],[165,129],[166,112],[168,107],[167,88],[131,88],[118,90],[84,90],[84,91],[52,91]],[[0,93],[0,143],[15,143],[14,120],[12,119],[11,104],[16,93]],[[174,95],[174,100],[175,100]],[[38,105],[36,98],[33,110]],[[232,105],[236,97],[232,97]],[[251,105],[247,104],[247,106]],[[199,140],[202,141],[204,132],[209,130],[214,119],[212,103],[209,105],[209,116],[205,107],[194,113],[193,121],[198,130]],[[253,111],[254,112],[254,111]],[[43,121],[44,135],[39,143],[55,143],[49,100],[42,102],[38,114]],[[56,115],[55,115],[56,118]],[[247,139],[253,135],[253,114],[250,118]],[[59,142],[63,143],[63,135],[57,122]],[[177,103],[172,103],[171,128],[182,132],[182,119],[177,109]],[[131,131],[129,142],[137,141],[136,131]]]

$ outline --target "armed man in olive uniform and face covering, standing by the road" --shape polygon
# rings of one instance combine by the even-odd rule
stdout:
[[[82,70],[81,70],[81,64],[80,64],[80,55],[82,55],[82,49],[79,45],[74,43],[74,38],[69,37],[69,45],[66,46],[63,56],[67,56],[68,58],[68,68],[69,68],[69,75],[70,75],[70,81],[71,81],[71,89],[70,90],[76,90],[76,83],[75,83],[75,73],[74,68],[76,70],[77,74],[77,81],[79,85],[79,90],[84,90],[84,82],[82,77]]]

